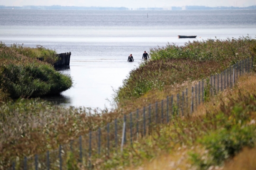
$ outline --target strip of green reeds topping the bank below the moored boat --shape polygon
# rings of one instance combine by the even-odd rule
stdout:
[[[194,61],[223,61],[232,64],[251,56],[250,47],[256,43],[251,37],[227,38],[227,40],[202,40],[186,42],[182,46],[167,44],[150,51],[151,59],[191,59]]]

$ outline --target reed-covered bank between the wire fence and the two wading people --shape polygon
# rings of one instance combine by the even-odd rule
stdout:
[[[254,55],[253,47],[256,47],[255,39],[240,37],[193,41],[183,46],[167,44],[166,47],[152,49],[151,60],[130,72],[116,91],[114,101],[119,108],[132,107],[133,110],[137,105],[146,105],[149,98],[155,99],[151,103],[160,101],[163,99],[163,95],[159,95],[161,92],[171,91],[184,82],[208,77]]]

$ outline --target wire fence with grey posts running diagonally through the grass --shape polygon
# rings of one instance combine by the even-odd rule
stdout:
[[[105,127],[90,132],[54,151],[13,161],[10,170],[70,170],[76,166],[93,169],[99,160],[121,154],[123,147],[154,131],[155,124],[168,123],[175,116],[192,114],[213,95],[232,88],[238,76],[250,72],[253,58],[244,59],[219,74],[202,79],[181,93],[137,109],[123,119],[115,119]]]

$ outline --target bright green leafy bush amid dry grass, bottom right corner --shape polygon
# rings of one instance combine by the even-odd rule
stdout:
[[[256,127],[222,128],[204,136],[199,140],[207,154],[191,153],[192,161],[200,170],[207,170],[212,165],[223,165],[223,162],[237,155],[245,146],[254,147],[256,143]],[[207,159],[205,159],[207,158]]]

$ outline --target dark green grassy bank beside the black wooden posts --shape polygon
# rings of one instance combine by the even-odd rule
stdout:
[[[52,95],[69,89],[71,77],[52,66],[57,60],[55,51],[42,46],[7,46],[0,42],[0,101]]]

